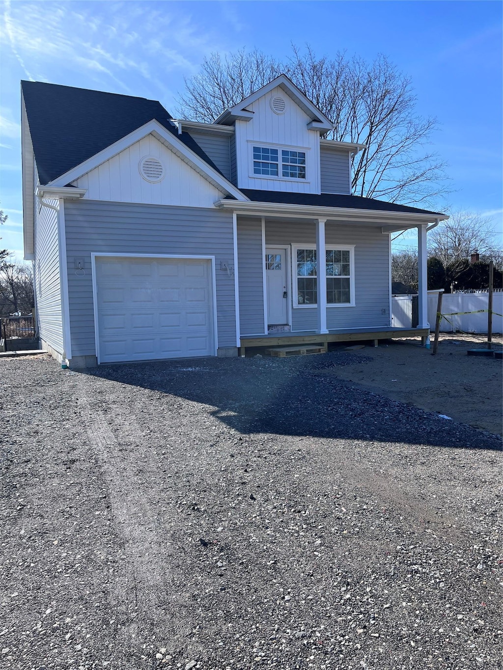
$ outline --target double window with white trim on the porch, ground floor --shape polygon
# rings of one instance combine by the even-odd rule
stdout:
[[[354,305],[353,247],[327,247],[327,306]],[[294,307],[315,307],[318,302],[316,249],[294,247]]]

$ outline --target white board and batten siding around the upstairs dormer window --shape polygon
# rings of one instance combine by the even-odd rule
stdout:
[[[270,99],[276,95],[284,98],[284,114],[275,114],[270,107]],[[261,96],[247,109],[254,112],[250,121],[235,122],[237,149],[237,186],[269,191],[294,193],[320,193],[320,140],[319,133],[309,131],[311,119],[290,98],[280,86],[276,86]],[[272,145],[284,149],[299,149],[306,153],[306,179],[286,179],[281,176],[254,176],[253,151],[251,147]],[[280,153],[281,155],[281,153]]]

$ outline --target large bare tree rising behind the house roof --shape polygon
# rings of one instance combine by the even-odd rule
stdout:
[[[178,112],[210,123],[282,72],[335,123],[328,137],[367,145],[354,159],[353,193],[409,204],[447,194],[445,163],[424,149],[437,121],[416,114],[410,78],[385,56],[319,58],[309,46],[292,46],[284,62],[258,50],[212,54],[185,80]]]

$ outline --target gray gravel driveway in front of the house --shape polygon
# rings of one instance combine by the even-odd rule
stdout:
[[[2,360],[0,667],[500,669],[500,440],[355,358]]]

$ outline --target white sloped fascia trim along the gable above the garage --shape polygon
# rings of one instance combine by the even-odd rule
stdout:
[[[180,141],[176,135],[172,135],[170,131],[166,130],[164,126],[158,123],[158,121],[155,119],[152,119],[152,121],[149,121],[148,123],[137,128],[132,133],[129,133],[129,135],[125,135],[125,137],[122,137],[117,142],[111,144],[109,147],[99,151],[99,153],[96,153],[94,156],[91,156],[91,158],[88,158],[87,161],[80,163],[80,165],[76,165],[76,167],[72,167],[72,170],[68,170],[68,172],[65,172],[65,174],[62,174],[57,179],[49,182],[48,186],[66,186],[66,184],[74,182],[79,177],[82,177],[82,175],[87,174],[87,172],[91,172],[91,170],[94,170],[95,167],[98,167],[98,165],[101,165],[101,163],[105,163],[105,161],[113,158],[113,156],[117,155],[117,153],[127,149],[127,147],[130,147],[132,144],[138,142],[140,139],[143,139],[151,133],[154,135],[154,137],[156,137],[156,139],[174,151],[176,155],[182,159],[185,159],[185,161],[191,167],[193,167],[196,172],[199,172],[199,174],[205,177],[205,179],[213,184],[213,186],[219,188],[219,190],[223,190],[225,193],[228,193],[231,196],[234,196],[237,198],[237,200],[248,200],[248,198],[246,198],[246,196],[243,195],[239,189],[233,186],[231,182],[227,181],[227,179],[219,174],[217,170],[214,170],[213,167],[203,161],[203,159],[200,158],[197,153],[194,153],[192,149],[186,147],[186,145],[184,145],[184,143]]]

